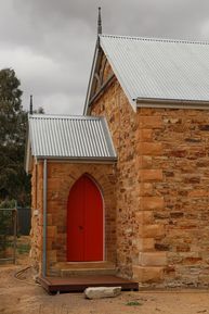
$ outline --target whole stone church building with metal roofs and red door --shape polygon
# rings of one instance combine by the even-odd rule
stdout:
[[[100,34],[83,115],[28,124],[39,272],[209,284],[209,43]]]

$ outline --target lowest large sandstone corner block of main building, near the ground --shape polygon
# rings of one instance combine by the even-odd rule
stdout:
[[[133,279],[139,282],[159,282],[164,279],[164,267],[132,266]]]

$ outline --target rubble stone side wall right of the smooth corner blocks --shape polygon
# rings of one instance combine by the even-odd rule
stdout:
[[[139,116],[146,124],[153,120],[143,154],[145,172],[155,171],[156,180],[143,194],[152,196],[152,219],[165,231],[154,241],[167,258],[165,282],[208,286],[209,111],[142,109]]]

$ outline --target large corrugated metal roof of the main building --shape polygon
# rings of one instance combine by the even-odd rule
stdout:
[[[130,100],[209,101],[209,42],[102,35]]]

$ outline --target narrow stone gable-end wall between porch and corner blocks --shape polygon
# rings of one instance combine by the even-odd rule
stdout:
[[[115,79],[91,109],[92,115],[106,116],[117,150],[117,266],[125,277],[132,276],[139,259],[136,212],[139,210],[136,114]]]

